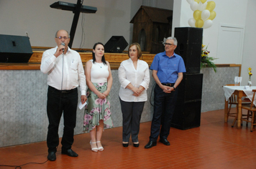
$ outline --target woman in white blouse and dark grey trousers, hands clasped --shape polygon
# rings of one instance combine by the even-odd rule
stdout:
[[[123,115],[123,146],[128,147],[129,137],[132,135],[133,145],[137,148],[140,118],[147,101],[146,90],[150,84],[150,71],[147,62],[140,60],[140,44],[131,44],[128,55],[129,59],[124,60],[118,69],[121,83],[119,99]]]

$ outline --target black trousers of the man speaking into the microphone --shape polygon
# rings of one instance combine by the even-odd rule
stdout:
[[[47,92],[47,116],[49,120],[47,132],[48,151],[57,151],[59,145],[58,128],[63,114],[64,130],[61,144],[62,150],[71,148],[73,144],[74,128],[76,127],[76,110],[78,105],[78,90],[60,91],[48,87]]]

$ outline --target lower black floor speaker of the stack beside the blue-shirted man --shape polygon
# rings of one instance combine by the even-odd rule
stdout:
[[[183,74],[171,127],[186,130],[200,126],[202,85],[203,74]]]

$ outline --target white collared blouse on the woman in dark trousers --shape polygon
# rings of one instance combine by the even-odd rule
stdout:
[[[137,62],[137,69],[135,69],[132,59],[124,60],[118,69],[119,82],[121,87],[119,90],[119,97],[124,102],[145,102],[147,101],[147,88],[150,84],[150,70],[147,62],[139,60]],[[145,90],[140,96],[133,95],[132,90],[127,89],[127,85],[132,83],[134,87],[144,87]]]

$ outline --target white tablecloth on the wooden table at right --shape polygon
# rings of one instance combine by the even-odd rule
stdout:
[[[252,101],[252,96],[253,96],[252,90],[256,90],[256,86],[250,87],[250,90],[245,90],[244,86],[224,86],[223,90],[224,90],[224,95],[226,97],[226,100],[229,100],[229,97],[231,97],[234,90],[243,90],[245,95],[247,95],[247,97]],[[254,100],[253,104],[256,105],[256,100]]]

